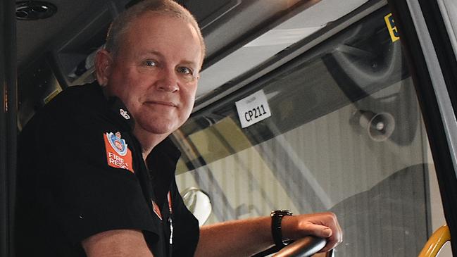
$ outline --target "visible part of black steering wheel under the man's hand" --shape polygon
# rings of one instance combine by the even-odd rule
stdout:
[[[277,253],[275,253],[273,257],[309,257],[320,251],[320,249],[323,249],[326,243],[327,241],[325,238],[308,236],[298,239],[292,244],[288,244],[280,251],[277,251],[277,249],[275,250],[275,246],[273,246],[272,249],[268,249],[251,257],[268,256],[275,251],[277,251]],[[333,257],[333,250],[328,251],[325,256]]]

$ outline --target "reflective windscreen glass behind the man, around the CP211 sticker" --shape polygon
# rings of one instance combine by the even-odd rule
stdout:
[[[417,256],[430,232],[434,166],[387,13],[372,13],[174,134],[184,153],[178,185],[208,192],[208,222],[330,210],[345,233],[337,256]],[[234,101],[260,89],[272,116],[242,129]]]

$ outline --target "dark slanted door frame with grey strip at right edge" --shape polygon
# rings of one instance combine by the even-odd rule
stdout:
[[[415,89],[437,170],[444,216],[457,238],[456,55],[437,1],[388,0]],[[452,53],[452,54],[450,54]],[[457,240],[451,241],[457,255]]]

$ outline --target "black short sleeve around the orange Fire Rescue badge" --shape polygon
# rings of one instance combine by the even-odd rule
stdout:
[[[158,234],[136,171],[107,163],[104,134],[118,132],[115,125],[94,115],[48,121],[45,127],[36,146],[42,156],[40,199],[70,242],[108,230]],[[132,142],[126,144],[131,150]]]

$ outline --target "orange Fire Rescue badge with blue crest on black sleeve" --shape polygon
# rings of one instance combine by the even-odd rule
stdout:
[[[132,173],[132,151],[127,148],[125,139],[122,139],[120,132],[107,132],[104,134],[106,161],[113,168],[130,170]]]

